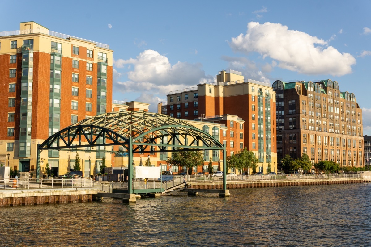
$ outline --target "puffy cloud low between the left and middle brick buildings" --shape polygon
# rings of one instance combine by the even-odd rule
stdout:
[[[133,69],[127,73],[128,80],[125,81],[115,80],[121,74],[114,69],[114,90],[123,93],[142,93],[146,97],[148,96],[148,100],[158,100],[170,91],[214,81],[212,76],[205,75],[205,72],[201,69],[201,64],[179,61],[171,65],[167,57],[154,50],[145,50],[136,58],[114,60],[114,66],[117,68],[129,65],[132,65]],[[155,93],[152,97],[152,94],[148,92]]]

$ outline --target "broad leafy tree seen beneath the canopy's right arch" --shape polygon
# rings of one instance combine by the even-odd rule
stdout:
[[[181,150],[183,148],[177,148]],[[167,164],[173,166],[187,167],[188,174],[193,173],[193,167],[202,166],[204,157],[202,151],[176,151],[171,153],[171,157],[167,157]]]

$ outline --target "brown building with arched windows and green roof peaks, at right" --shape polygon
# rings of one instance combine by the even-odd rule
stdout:
[[[362,167],[362,110],[337,81],[275,81],[277,155]],[[280,169],[280,167],[279,167]]]

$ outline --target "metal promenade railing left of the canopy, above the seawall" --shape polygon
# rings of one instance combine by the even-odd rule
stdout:
[[[0,190],[40,188],[91,188],[96,187],[90,178],[6,178],[0,180]]]

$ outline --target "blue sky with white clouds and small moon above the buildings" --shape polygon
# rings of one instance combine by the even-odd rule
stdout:
[[[113,99],[167,104],[170,91],[214,82],[331,79],[354,93],[371,135],[371,1],[2,1],[0,31],[35,21],[109,44]],[[18,7],[16,7],[18,6]]]

